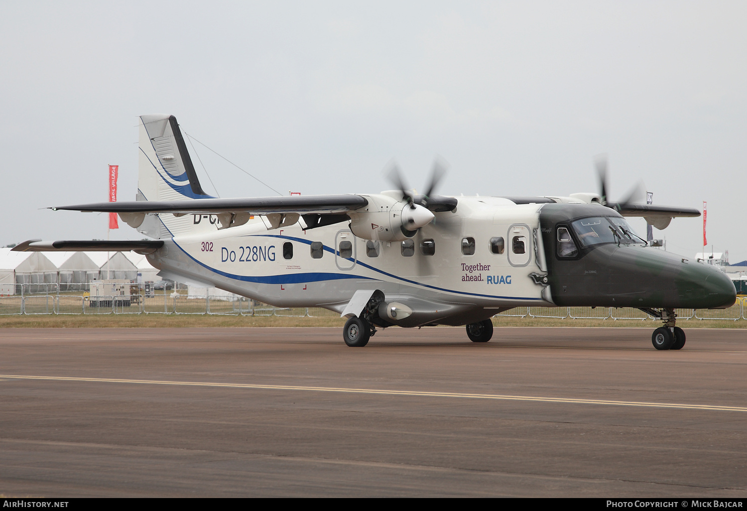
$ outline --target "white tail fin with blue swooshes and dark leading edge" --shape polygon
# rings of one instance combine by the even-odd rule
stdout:
[[[211,199],[202,191],[176,117],[140,116],[137,200]],[[192,230],[192,218],[149,214],[138,231],[151,238],[168,238]]]

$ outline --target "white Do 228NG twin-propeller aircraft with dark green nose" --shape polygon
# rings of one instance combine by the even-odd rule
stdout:
[[[140,117],[137,200],[52,208],[114,211],[149,241],[25,241],[13,250],[135,250],[177,282],[275,306],[324,307],[349,318],[348,346],[376,327],[466,325],[489,341],[490,318],[518,306],[634,307],[663,320],[657,350],[679,350],[675,309],[726,308],[736,290],[699,261],[648,247],[624,217],[658,229],[690,208],[568,197],[424,195],[217,199],[202,191],[170,115]]]

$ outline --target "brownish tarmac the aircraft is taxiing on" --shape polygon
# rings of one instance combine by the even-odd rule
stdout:
[[[747,497],[747,332],[1,329],[0,494]]]

